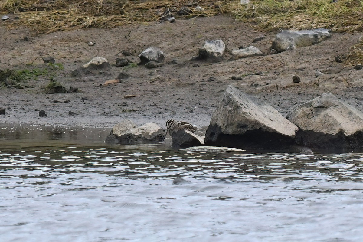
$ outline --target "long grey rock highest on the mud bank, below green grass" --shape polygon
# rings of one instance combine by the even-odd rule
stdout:
[[[294,50],[299,47],[318,44],[330,37],[330,29],[313,29],[290,31],[283,30],[278,33],[272,42],[271,49],[278,53]]]

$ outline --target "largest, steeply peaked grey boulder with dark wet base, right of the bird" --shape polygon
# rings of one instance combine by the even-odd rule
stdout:
[[[234,148],[287,148],[298,128],[260,99],[228,86],[213,113],[205,144]]]

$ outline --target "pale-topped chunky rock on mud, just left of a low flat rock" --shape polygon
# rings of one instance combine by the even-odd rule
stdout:
[[[222,57],[225,47],[222,40],[206,40],[204,46],[199,49],[197,59],[218,61]]]

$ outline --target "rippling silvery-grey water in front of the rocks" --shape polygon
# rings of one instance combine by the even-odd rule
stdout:
[[[0,144],[1,242],[363,239],[362,153]]]

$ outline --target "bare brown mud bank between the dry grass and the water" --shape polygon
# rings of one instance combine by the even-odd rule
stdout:
[[[320,44],[270,55],[275,34],[257,32],[249,24],[227,16],[39,36],[26,29],[7,30],[0,25],[0,41],[4,43],[0,49],[1,70],[49,68],[42,57],[53,56],[63,66],[62,70],[52,70],[54,79],[66,89],[79,90],[45,94],[50,79],[47,75],[27,81],[32,88],[1,87],[0,107],[6,108],[6,114],[0,115],[0,125],[111,128],[127,118],[137,124],[155,122],[165,127],[166,120],[172,118],[205,129],[227,85],[261,98],[283,116],[326,92],[363,111],[363,70],[335,61],[335,56],[347,54],[350,46],[359,42],[362,32],[332,33]],[[25,36],[28,40],[24,40]],[[252,43],[260,36],[265,38]],[[217,39],[227,47],[224,61],[190,61],[205,40]],[[88,46],[88,41],[95,45]],[[228,61],[231,49],[250,45],[265,56]],[[116,58],[137,63],[137,55],[150,46],[163,50],[166,61],[162,67],[111,66],[102,73],[71,75],[95,56],[107,58],[111,65]],[[131,56],[123,55],[123,50]],[[317,70],[324,74],[317,77]],[[130,77],[118,84],[101,85],[121,72]],[[293,75],[299,75],[301,82],[293,83]],[[39,110],[46,111],[48,117],[40,118]],[[70,111],[77,115],[69,115]]]

